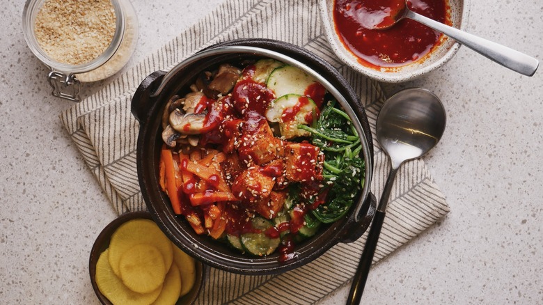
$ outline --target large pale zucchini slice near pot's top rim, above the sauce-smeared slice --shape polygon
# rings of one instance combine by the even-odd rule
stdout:
[[[317,82],[312,76],[292,65],[276,68],[269,75],[267,87],[274,91],[276,97],[285,94],[306,94],[306,89]]]

